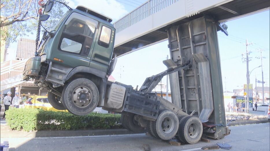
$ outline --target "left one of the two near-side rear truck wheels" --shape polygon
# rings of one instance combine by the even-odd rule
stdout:
[[[169,140],[178,131],[179,120],[177,115],[171,110],[164,110],[158,115],[156,120],[156,132],[163,140]]]

